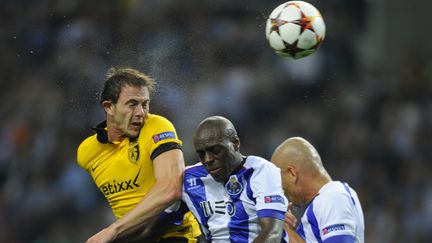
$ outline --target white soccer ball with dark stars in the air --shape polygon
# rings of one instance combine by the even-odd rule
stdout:
[[[266,37],[270,47],[280,56],[303,58],[314,53],[324,40],[324,19],[312,4],[289,1],[270,14]]]

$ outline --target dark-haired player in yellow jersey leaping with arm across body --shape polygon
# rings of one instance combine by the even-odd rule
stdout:
[[[77,158],[117,221],[87,242],[121,241],[135,232],[151,235],[148,226],[181,197],[182,142],[170,121],[149,113],[154,83],[131,68],[113,68],[107,74],[101,95],[106,121],[81,143]],[[200,235],[190,212],[164,229],[157,242],[196,242]]]

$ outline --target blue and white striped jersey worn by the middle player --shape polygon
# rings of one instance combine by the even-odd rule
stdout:
[[[288,206],[279,168],[256,156],[247,157],[225,185],[201,163],[187,167],[183,201],[211,242],[252,242],[261,230],[259,218],[284,220]],[[285,232],[281,242],[288,242]]]

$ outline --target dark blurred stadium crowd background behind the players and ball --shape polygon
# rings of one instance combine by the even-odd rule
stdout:
[[[326,40],[289,61],[264,34],[282,2],[2,0],[0,242],[83,242],[112,222],[75,163],[111,66],[158,81],[151,110],[188,164],[208,115],[232,119],[245,154],[303,136],[357,189],[366,242],[432,242],[432,4],[311,0]]]

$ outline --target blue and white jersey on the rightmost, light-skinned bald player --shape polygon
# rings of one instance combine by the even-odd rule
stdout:
[[[307,243],[364,243],[364,217],[357,193],[340,181],[325,184],[297,227]]]

